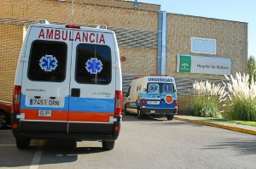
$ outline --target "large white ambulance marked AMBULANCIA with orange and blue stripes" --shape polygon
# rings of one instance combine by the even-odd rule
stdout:
[[[98,140],[103,149],[113,149],[122,117],[121,89],[119,48],[107,26],[47,20],[30,25],[15,76],[17,148],[27,148],[32,138],[61,138],[73,146]]]

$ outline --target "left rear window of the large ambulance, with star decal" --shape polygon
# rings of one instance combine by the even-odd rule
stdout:
[[[65,42],[32,42],[27,77],[31,81],[63,82],[66,78],[67,44]]]

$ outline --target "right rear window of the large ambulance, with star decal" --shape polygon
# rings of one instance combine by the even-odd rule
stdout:
[[[80,43],[77,46],[75,80],[84,84],[111,82],[111,50],[106,45]]]

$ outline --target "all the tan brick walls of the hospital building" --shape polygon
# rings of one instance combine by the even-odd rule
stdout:
[[[24,24],[39,19],[55,23],[70,23],[72,0],[61,3],[56,0],[4,0],[0,5],[0,99],[11,101],[15,78],[15,67],[22,44]],[[135,43],[140,43],[142,33],[154,34],[157,38],[158,11],[160,5],[120,0],[75,0],[73,23],[81,25],[108,25],[125,32],[125,36],[137,32]],[[124,36],[124,35],[123,35]],[[148,35],[150,37],[150,35]],[[147,37],[147,38],[148,38]],[[150,37],[150,38],[151,38]],[[217,54],[192,54],[191,37],[217,40]],[[138,38],[138,39],[136,39]],[[150,44],[152,39],[144,40]],[[156,44],[157,45],[157,44]],[[120,45],[123,73],[156,74],[157,46],[129,48]],[[247,23],[215,20],[182,14],[167,14],[166,30],[166,74],[184,78],[223,79],[223,76],[177,73],[177,54],[224,57],[232,60],[232,74],[247,72]],[[191,96],[178,95],[178,110],[188,110]]]

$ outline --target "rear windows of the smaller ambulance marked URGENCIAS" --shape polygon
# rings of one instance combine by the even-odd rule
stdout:
[[[147,93],[174,93],[174,85],[172,83],[149,82]]]

